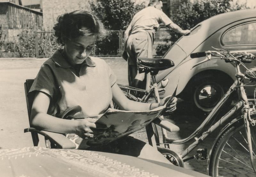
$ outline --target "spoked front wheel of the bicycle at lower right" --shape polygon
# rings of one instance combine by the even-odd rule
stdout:
[[[256,119],[256,112],[251,115]],[[252,129],[252,128],[251,128]],[[256,129],[256,126],[253,127]],[[255,132],[255,131],[254,131]],[[255,139],[255,134],[252,134]],[[256,142],[252,142],[254,151]],[[254,159],[256,160],[256,151]],[[255,162],[253,163],[256,166]],[[244,120],[238,117],[231,121],[220,133],[215,141],[209,157],[208,174],[217,176],[256,176],[252,168],[248,151]]]

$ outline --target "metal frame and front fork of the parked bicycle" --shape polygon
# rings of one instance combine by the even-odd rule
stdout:
[[[228,91],[224,94],[222,99],[219,101],[219,103],[213,108],[212,112],[206,117],[204,122],[201,123],[201,125],[192,133],[192,135],[188,136],[187,138],[180,139],[180,140],[173,140],[171,138],[168,138],[166,130],[162,128],[162,134],[163,134],[163,144],[165,147],[169,148],[169,144],[183,144],[186,143],[187,141],[195,138],[195,141],[190,144],[185,150],[180,151],[178,155],[181,158],[184,158],[186,155],[188,155],[189,152],[191,152],[198,144],[200,144],[204,139],[210,135],[214,130],[219,128],[221,125],[223,125],[225,122],[230,120],[236,113],[240,113],[242,110],[243,113],[243,119],[244,119],[244,124],[246,127],[246,132],[247,132],[247,139],[248,139],[248,146],[249,150],[252,153],[252,142],[251,142],[251,132],[250,132],[250,122],[248,121],[248,109],[250,108],[249,102],[247,95],[244,90],[244,84],[243,84],[243,77],[244,74],[241,73],[240,71],[240,64],[236,62],[235,64],[236,68],[236,80],[233,83],[233,85],[230,86]],[[158,94],[158,87],[156,83],[156,78],[154,75],[151,75],[152,79],[152,85],[150,86],[149,90],[142,90],[142,89],[137,89],[134,87],[129,87],[129,86],[124,86],[124,85],[119,85],[122,89],[127,89],[127,90],[133,90],[133,91],[139,91],[139,92],[145,92],[145,95],[142,97],[140,100],[141,102],[147,102],[150,96],[152,96],[153,92],[155,94],[155,99],[156,102],[160,102],[159,94]],[[224,116],[222,116],[217,122],[215,122],[210,128],[203,132],[200,137],[196,137],[201,130],[214,118],[214,116],[220,111],[221,107],[226,103],[228,97],[232,92],[235,90],[238,90],[238,98],[240,101],[237,102],[237,104],[231,108]],[[148,133],[148,132],[147,132]],[[148,137],[149,138],[149,137]],[[159,139],[156,140],[156,144],[160,145]],[[251,154],[251,162],[252,162],[252,154]],[[255,169],[254,169],[255,171]],[[256,172],[256,171],[255,171]]]

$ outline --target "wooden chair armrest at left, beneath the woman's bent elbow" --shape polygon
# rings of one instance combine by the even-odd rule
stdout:
[[[26,132],[38,133],[40,135],[45,136],[52,143],[56,144],[57,148],[59,149],[75,149],[76,148],[76,144],[71,142],[66,136],[60,133],[55,133],[55,132],[50,132],[45,130],[37,130],[34,128],[24,129],[24,133]]]

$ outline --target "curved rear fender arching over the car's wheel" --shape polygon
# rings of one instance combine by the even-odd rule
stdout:
[[[193,69],[191,69],[196,63],[202,61],[204,58],[205,57],[193,58],[193,59],[190,58],[187,61],[181,63],[179,66],[177,66],[168,75],[166,75],[164,79],[169,79],[169,82],[165,87],[164,95],[162,95],[161,97],[171,95],[174,92],[177,84],[178,84],[178,88],[177,88],[176,94],[177,95],[180,94],[188,84],[189,80],[193,76],[195,76],[196,74],[202,71],[207,71],[207,70],[221,71],[226,73],[233,80],[235,80],[235,74],[236,74],[235,67],[231,63],[226,63],[224,60],[212,59],[211,61],[200,64],[194,67]],[[230,67],[232,69],[230,69]],[[159,87],[161,87],[161,82],[159,83]]]

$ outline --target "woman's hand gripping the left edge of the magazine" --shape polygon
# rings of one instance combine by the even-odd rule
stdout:
[[[93,137],[93,131],[91,128],[96,129],[96,124],[94,123],[97,119],[85,118],[81,121],[76,121],[76,135],[81,138]]]

